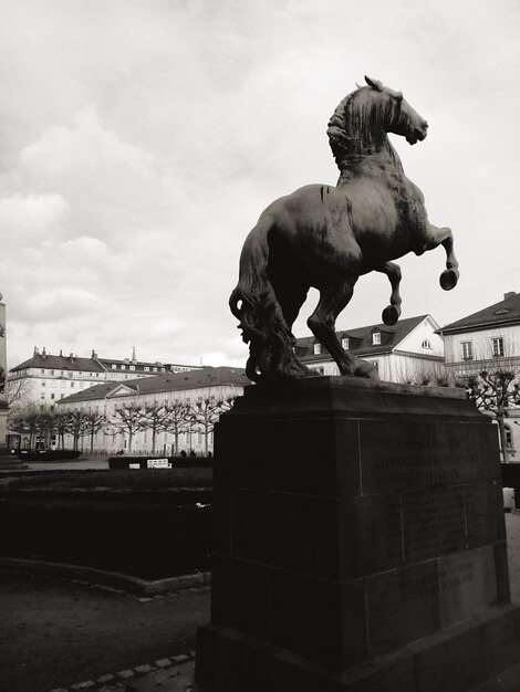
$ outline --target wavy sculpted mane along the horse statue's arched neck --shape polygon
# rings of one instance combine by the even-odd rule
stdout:
[[[376,124],[381,124],[386,115],[381,111],[382,102],[371,97],[374,91],[371,86],[360,86],[347,94],[329,120],[329,144],[341,171],[346,168],[349,156],[362,155],[366,150],[376,134]],[[381,127],[377,127],[377,134],[381,133]]]

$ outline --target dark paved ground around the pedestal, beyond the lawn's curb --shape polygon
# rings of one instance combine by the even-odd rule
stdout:
[[[520,602],[520,515],[506,514],[506,524],[512,600]],[[123,691],[125,680],[139,692],[185,692],[197,626],[209,619],[209,588],[139,600],[0,573],[0,692]],[[481,692],[520,692],[520,669],[510,678]]]

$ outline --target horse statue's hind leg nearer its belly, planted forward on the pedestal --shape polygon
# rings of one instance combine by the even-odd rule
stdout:
[[[344,281],[322,289],[318,306],[306,324],[334,358],[342,375],[378,379],[374,366],[344,350],[335,333],[336,317],[350,302],[354,293],[354,284],[355,280]]]

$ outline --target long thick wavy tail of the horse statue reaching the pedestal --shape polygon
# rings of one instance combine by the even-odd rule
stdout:
[[[229,297],[242,339],[250,345],[246,375],[257,382],[268,374],[284,374],[295,343],[268,276],[270,229],[269,219],[260,219],[247,237],[240,255],[239,281]]]

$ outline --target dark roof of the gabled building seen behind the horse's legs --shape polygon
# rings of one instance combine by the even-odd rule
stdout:
[[[366,327],[356,327],[355,329],[342,329],[336,332],[336,334],[340,340],[349,338],[349,353],[356,356],[375,356],[394,350],[397,344],[427,317],[433,319],[430,315],[420,315],[418,317],[398,319],[397,324],[393,326],[372,324]],[[376,332],[381,334],[381,344],[372,343],[372,335]],[[323,360],[324,357],[329,358],[329,354],[314,354],[313,349],[316,342],[318,339],[313,336],[297,339],[297,356],[305,363]]]

